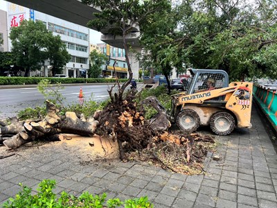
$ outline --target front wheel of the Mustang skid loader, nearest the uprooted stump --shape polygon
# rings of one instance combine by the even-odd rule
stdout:
[[[176,123],[184,132],[193,132],[200,125],[200,117],[194,110],[185,109],[178,114]]]

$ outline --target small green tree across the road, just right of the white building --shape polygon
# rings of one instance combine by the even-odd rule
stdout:
[[[89,54],[89,59],[91,60],[91,66],[89,67],[89,77],[98,78],[102,73],[102,64],[105,64],[108,60],[107,55],[93,50]]]

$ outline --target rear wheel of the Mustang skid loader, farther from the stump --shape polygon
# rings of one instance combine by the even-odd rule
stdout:
[[[235,119],[228,112],[217,112],[211,116],[210,126],[216,135],[229,135],[235,128]]]

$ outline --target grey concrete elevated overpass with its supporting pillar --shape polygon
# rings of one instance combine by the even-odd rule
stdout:
[[[26,8],[43,12],[47,15],[51,15],[66,21],[79,24],[87,27],[89,20],[95,18],[93,12],[100,12],[96,8],[87,6],[80,0],[6,0],[10,3],[15,3]],[[92,28],[96,30],[96,28]],[[102,42],[110,44],[111,46],[123,49],[122,37],[111,35],[107,30],[100,31],[103,35],[101,36]],[[132,49],[141,51],[139,46],[139,31],[134,28],[132,33],[126,35],[127,43],[132,46]],[[133,69],[134,78],[139,78],[139,62],[136,61],[135,54],[129,53],[129,60]]]

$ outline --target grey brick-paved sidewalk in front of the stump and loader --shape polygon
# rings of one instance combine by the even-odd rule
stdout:
[[[0,203],[19,191],[19,182],[37,188],[46,178],[56,193],[82,191],[121,200],[148,196],[155,207],[277,207],[277,155],[256,109],[253,128],[218,137],[220,161],[209,158],[206,175],[181,175],[117,160],[86,163],[78,146],[44,144],[0,160]],[[1,147],[0,147],[1,148]]]

